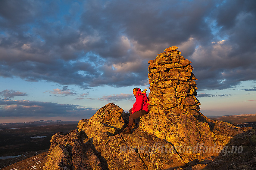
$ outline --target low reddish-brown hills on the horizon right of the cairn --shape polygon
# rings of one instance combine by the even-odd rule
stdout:
[[[256,122],[256,113],[249,114],[249,115],[228,115],[228,116],[221,116],[219,118],[210,118],[210,119],[225,121],[232,124],[249,123],[249,122]]]

